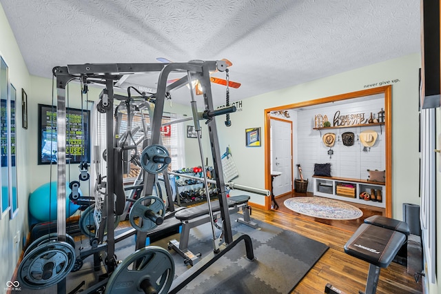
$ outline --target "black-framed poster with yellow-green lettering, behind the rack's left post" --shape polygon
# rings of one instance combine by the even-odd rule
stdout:
[[[57,163],[57,107],[39,104],[38,164]],[[90,110],[66,108],[66,163],[90,162]]]

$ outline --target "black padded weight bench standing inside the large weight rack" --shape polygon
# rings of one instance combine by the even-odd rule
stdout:
[[[246,224],[247,226],[251,226],[252,228],[258,228],[258,224],[252,222],[249,217],[249,210],[251,208],[248,206],[248,200],[248,195],[228,197],[227,204],[229,213],[232,214],[241,210],[243,212],[243,217],[238,218],[237,222],[241,224]],[[212,206],[213,219],[219,219],[219,201],[212,201],[210,202],[210,204]],[[168,244],[168,248],[173,249],[174,251],[179,253],[179,255],[184,258],[185,264],[190,264],[193,266],[193,264],[197,262],[200,255],[194,255],[191,251],[189,251],[189,233],[190,229],[196,228],[196,226],[201,226],[201,224],[206,224],[207,222],[210,222],[211,218],[209,215],[208,204],[205,203],[198,206],[179,210],[174,216],[176,217],[176,219],[182,222],[181,238],[179,239],[179,242],[176,239],[171,240]]]

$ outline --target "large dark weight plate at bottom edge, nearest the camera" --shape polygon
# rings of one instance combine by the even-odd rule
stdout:
[[[147,246],[127,256],[110,275],[105,294],[167,293],[174,278],[174,262],[167,250]],[[150,291],[143,288],[151,286]]]

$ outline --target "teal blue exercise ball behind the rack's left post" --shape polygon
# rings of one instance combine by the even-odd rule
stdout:
[[[80,207],[69,199],[71,190],[66,184],[66,215],[68,218]],[[80,195],[81,190],[79,190]],[[57,182],[50,182],[39,186],[29,195],[29,212],[40,222],[49,222],[57,219]]]

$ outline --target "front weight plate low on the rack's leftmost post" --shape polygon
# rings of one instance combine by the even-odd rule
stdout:
[[[23,257],[17,280],[25,288],[48,288],[72,271],[75,259],[75,250],[68,242],[41,244]]]

